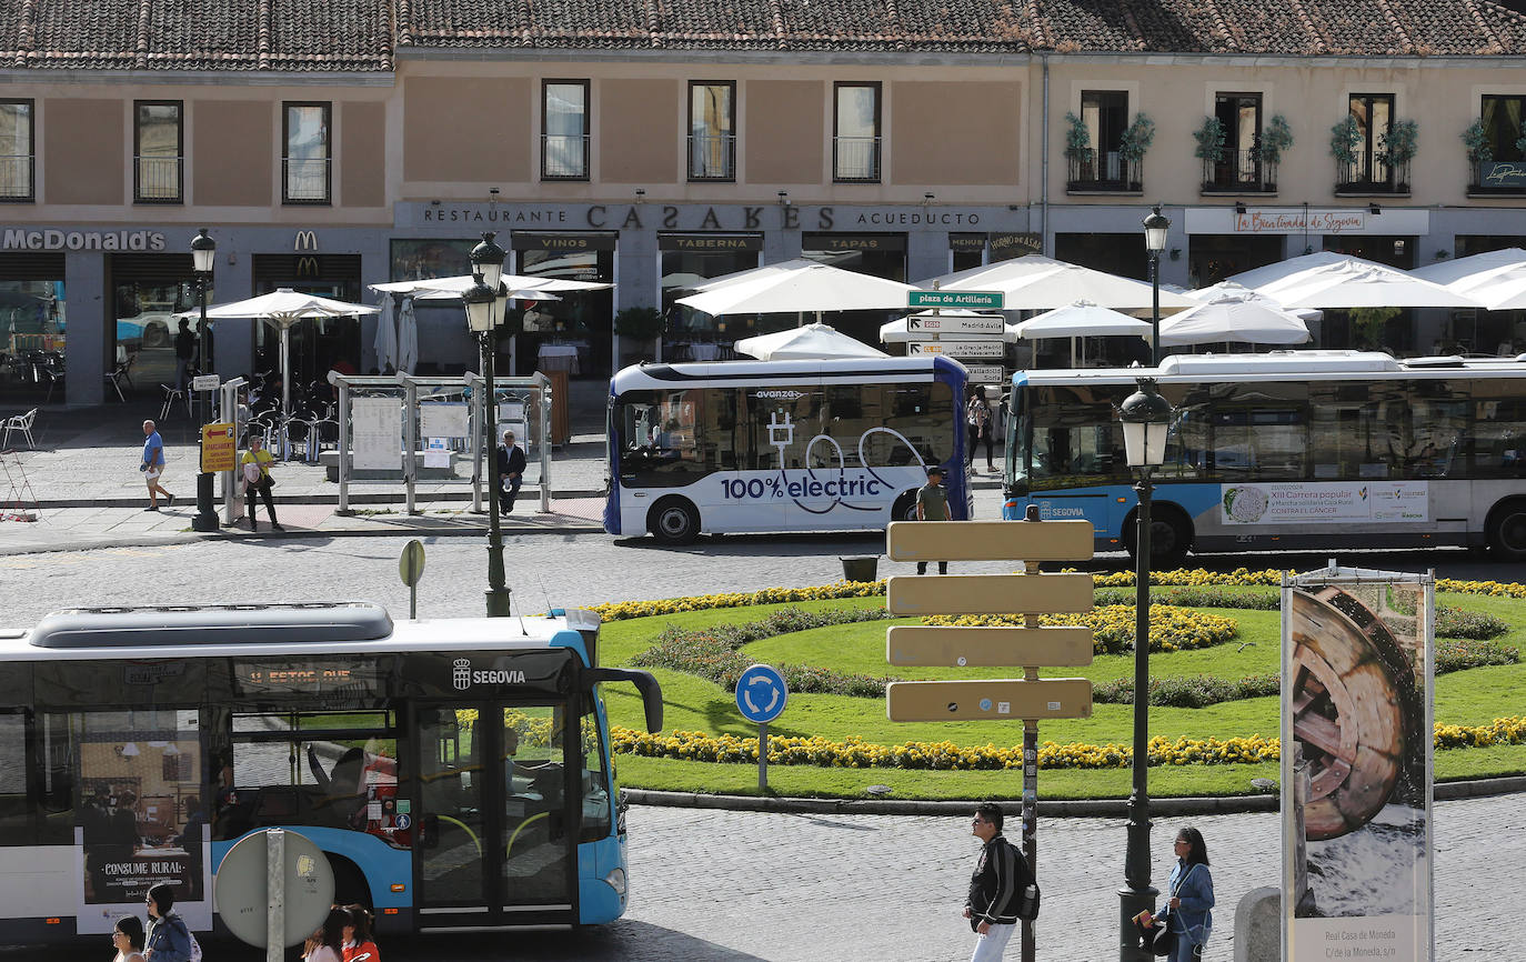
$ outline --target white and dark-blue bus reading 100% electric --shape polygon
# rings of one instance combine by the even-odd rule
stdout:
[[[861,531],[913,518],[928,467],[972,512],[946,357],[644,363],[609,382],[610,534]]]

